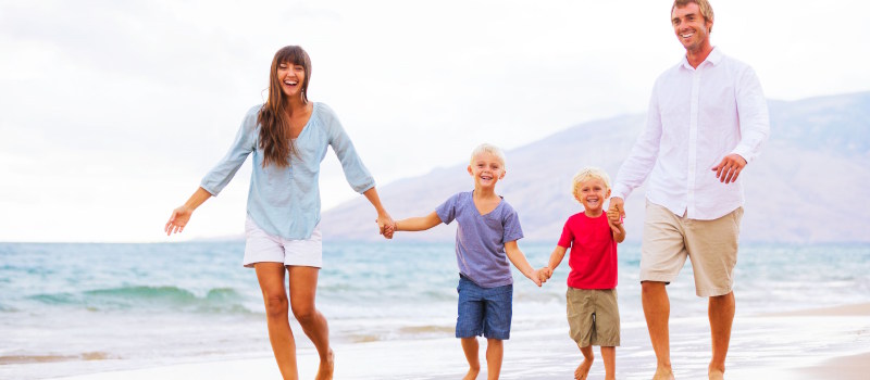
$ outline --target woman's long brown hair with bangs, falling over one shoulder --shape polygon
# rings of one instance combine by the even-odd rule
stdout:
[[[260,149],[263,150],[263,167],[276,165],[289,167],[290,157],[297,155],[290,136],[290,121],[287,119],[286,96],[281,90],[278,66],[282,63],[301,65],[306,69],[302,81],[302,101],[308,103],[308,83],[311,79],[311,59],[302,48],[288,46],[281,48],[272,59],[272,71],[269,74],[269,100],[260,109],[257,122],[260,124]]]

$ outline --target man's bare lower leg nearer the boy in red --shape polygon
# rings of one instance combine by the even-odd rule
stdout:
[[[668,320],[671,316],[671,301],[664,282],[641,282],[641,299],[644,304],[646,327],[649,330],[649,340],[652,351],[656,352],[656,375],[654,380],[673,379],[671,369],[671,341],[668,330]]]

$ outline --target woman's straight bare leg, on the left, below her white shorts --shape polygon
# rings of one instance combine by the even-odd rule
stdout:
[[[272,343],[272,353],[278,364],[281,376],[285,380],[296,380],[299,373],[296,368],[296,341],[290,330],[290,320],[287,315],[287,292],[284,289],[284,264],[258,263],[254,265],[257,280],[263,292],[265,304],[266,326],[269,327],[269,342]]]

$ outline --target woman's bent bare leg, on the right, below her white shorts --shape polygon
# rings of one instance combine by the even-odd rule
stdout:
[[[288,266],[290,275],[290,308],[302,331],[306,332],[320,355],[316,380],[333,378],[335,360],[330,349],[330,327],[326,318],[314,307],[320,268],[309,266]]]

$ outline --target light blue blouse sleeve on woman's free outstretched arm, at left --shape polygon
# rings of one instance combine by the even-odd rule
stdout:
[[[252,107],[241,121],[236,138],[223,159],[200,181],[199,186],[216,197],[221,190],[233,179],[256,148],[257,148],[257,114],[259,106]]]

